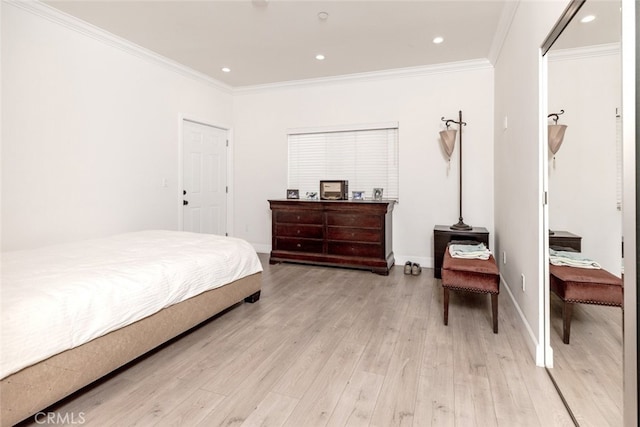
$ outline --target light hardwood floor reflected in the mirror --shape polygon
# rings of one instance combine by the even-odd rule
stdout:
[[[569,345],[562,302],[551,295],[550,370],[581,427],[623,425],[622,309],[575,304]]]

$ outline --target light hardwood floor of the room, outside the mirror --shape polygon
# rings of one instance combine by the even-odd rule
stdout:
[[[264,265],[240,304],[49,408],[84,425],[572,426],[500,295],[451,294],[433,270],[388,277]],[[37,425],[25,423],[25,425]]]

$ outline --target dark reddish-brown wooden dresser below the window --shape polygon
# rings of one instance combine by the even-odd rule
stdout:
[[[282,261],[371,270],[387,275],[393,200],[269,200],[271,257]]]

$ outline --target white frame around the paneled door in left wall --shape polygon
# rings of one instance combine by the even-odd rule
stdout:
[[[178,191],[176,194],[176,206],[178,206],[178,230],[184,231],[184,211],[182,209],[184,189],[184,122],[189,121],[197,123],[203,126],[210,126],[217,129],[221,129],[227,132],[229,138],[229,146],[227,147],[227,155],[225,161],[227,162],[227,210],[226,210],[226,229],[227,235],[234,235],[234,222],[233,222],[233,129],[230,126],[216,123],[212,120],[203,120],[189,114],[180,114],[178,117]]]

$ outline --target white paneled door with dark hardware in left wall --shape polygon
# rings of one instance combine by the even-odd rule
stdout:
[[[227,130],[184,120],[182,229],[225,235]]]

